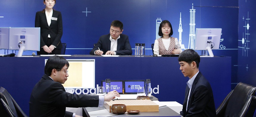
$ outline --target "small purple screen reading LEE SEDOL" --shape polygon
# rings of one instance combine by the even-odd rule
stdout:
[[[137,94],[140,86],[145,87],[145,80],[124,80],[124,94]]]

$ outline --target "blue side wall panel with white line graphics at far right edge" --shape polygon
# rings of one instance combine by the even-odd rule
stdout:
[[[238,82],[256,86],[256,1],[239,0],[238,25]]]

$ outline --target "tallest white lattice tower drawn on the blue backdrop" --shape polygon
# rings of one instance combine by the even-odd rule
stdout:
[[[194,49],[194,37],[195,37],[195,12],[196,10],[193,7],[193,3],[192,3],[192,9],[190,9],[190,33],[189,33],[189,44],[188,44],[188,48],[190,45],[190,49]]]

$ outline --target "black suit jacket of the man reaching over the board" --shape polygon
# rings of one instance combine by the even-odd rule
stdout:
[[[72,117],[66,107],[98,107],[99,96],[76,95],[65,91],[61,83],[43,75],[34,86],[29,101],[30,117]]]

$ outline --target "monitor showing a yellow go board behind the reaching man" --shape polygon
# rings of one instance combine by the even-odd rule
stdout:
[[[45,64],[48,59],[45,59]],[[95,59],[67,59],[68,80],[64,88],[95,88]]]

